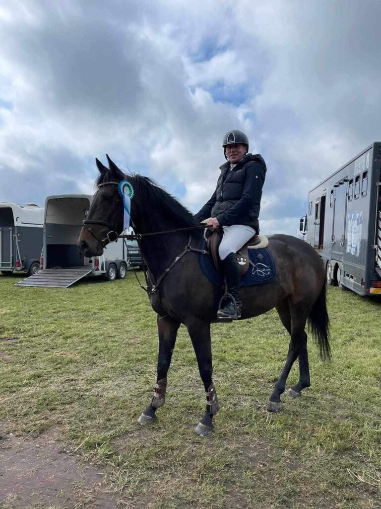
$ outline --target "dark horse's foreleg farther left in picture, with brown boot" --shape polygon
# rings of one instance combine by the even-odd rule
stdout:
[[[157,316],[157,330],[159,336],[159,353],[157,358],[157,378],[151,403],[138,419],[140,424],[148,424],[156,418],[155,412],[165,403],[167,391],[167,373],[171,364],[173,349],[175,348],[179,322],[170,317]]]

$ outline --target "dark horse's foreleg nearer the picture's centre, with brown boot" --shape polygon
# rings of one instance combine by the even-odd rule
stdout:
[[[217,393],[212,380],[212,349],[210,343],[210,324],[201,321],[187,326],[195,350],[201,379],[206,392],[206,409],[203,418],[196,426],[196,433],[201,436],[213,431],[213,415],[219,411]]]

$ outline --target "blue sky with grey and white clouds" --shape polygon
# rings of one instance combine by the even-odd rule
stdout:
[[[0,201],[93,192],[94,158],[190,210],[242,129],[268,172],[262,233],[381,139],[378,0],[2,0]]]

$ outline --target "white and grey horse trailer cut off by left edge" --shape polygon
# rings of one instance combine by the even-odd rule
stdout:
[[[2,274],[39,270],[44,209],[28,203],[0,203],[0,270]]]

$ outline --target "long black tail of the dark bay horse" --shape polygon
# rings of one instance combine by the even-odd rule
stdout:
[[[320,357],[323,360],[331,360],[331,347],[329,345],[329,317],[327,312],[327,288],[326,281],[319,297],[315,300],[311,313],[308,317],[308,327],[317,339],[320,349]]]

